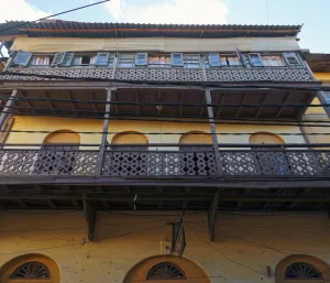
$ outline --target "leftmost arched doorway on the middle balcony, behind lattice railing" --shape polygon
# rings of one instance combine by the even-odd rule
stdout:
[[[70,175],[75,171],[80,135],[70,130],[50,133],[43,141],[42,150],[35,163],[40,174]]]

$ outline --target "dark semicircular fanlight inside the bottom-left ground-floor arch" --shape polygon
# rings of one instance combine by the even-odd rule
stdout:
[[[10,276],[15,280],[48,280],[51,279],[51,272],[48,268],[41,262],[28,262],[18,268]]]

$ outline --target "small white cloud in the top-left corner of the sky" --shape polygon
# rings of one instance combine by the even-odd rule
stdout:
[[[6,11],[0,14],[0,22],[20,20],[31,21],[50,15],[50,13],[46,13],[37,9],[35,6],[28,3],[26,0],[9,0],[6,1],[3,8],[6,8]]]

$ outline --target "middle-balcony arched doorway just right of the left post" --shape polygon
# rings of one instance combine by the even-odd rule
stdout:
[[[119,176],[147,175],[147,144],[145,134],[135,131],[117,133],[111,140],[111,154],[117,163],[111,174]]]

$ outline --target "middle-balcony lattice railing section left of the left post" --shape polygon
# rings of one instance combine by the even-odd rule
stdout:
[[[1,151],[1,175],[95,175],[98,151]]]

